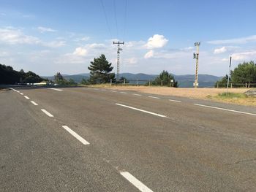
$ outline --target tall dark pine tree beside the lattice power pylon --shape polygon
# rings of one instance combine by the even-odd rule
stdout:
[[[94,61],[91,61],[91,65],[88,67],[91,71],[89,82],[92,84],[106,83],[110,82],[110,79],[114,79],[115,74],[110,73],[113,70],[113,66],[111,65],[103,54],[99,58],[94,58]]]

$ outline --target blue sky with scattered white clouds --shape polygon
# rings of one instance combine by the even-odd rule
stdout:
[[[0,0],[0,63],[41,75],[79,74],[104,53],[116,72],[225,75],[256,59],[256,1]]]

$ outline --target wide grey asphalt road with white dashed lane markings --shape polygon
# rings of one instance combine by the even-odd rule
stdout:
[[[0,191],[256,191],[253,107],[29,87],[0,107]]]

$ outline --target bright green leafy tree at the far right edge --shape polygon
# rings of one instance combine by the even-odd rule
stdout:
[[[256,82],[256,64],[253,61],[238,64],[230,75],[234,83]]]

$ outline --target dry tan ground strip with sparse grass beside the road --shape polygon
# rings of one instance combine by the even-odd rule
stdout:
[[[121,91],[138,91],[140,93],[151,93],[165,96],[183,96],[193,99],[207,99],[213,101],[220,101],[231,104],[241,104],[247,106],[256,107],[255,97],[220,97],[219,94],[227,92],[226,88],[167,88],[167,87],[147,87],[147,86],[111,86],[105,85],[94,85],[97,88],[111,88]],[[244,93],[249,88],[229,88],[230,93]]]

